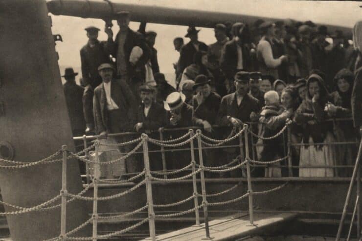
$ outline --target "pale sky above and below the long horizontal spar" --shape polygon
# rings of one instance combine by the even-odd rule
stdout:
[[[316,23],[336,24],[353,27],[354,23],[362,20],[362,5],[356,1],[285,1],[285,0],[112,0],[134,4],[157,5],[166,7],[218,11],[226,13],[240,13],[255,16],[290,18],[295,20],[312,20]],[[99,39],[106,40],[103,32],[104,22],[95,19],[82,19],[67,16],[52,16],[53,34],[61,34],[63,42],[57,42],[56,50],[59,53],[60,66],[80,67],[79,50],[87,42],[85,27],[94,25],[100,29]],[[113,21],[114,35],[118,31]],[[138,29],[139,23],[132,22],[130,27]],[[179,53],[174,50],[172,40],[183,37],[187,27],[175,25],[147,24],[146,30],[158,33],[156,49],[160,71],[173,73],[172,63],[177,61]],[[213,30],[203,28],[199,40],[206,44],[215,42]],[[185,39],[187,42],[188,40]]]

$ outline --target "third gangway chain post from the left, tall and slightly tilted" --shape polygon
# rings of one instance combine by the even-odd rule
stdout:
[[[153,199],[152,199],[152,176],[150,172],[150,160],[148,156],[148,136],[142,134],[143,142],[143,161],[145,168],[145,179],[146,179],[146,195],[148,205],[148,224],[150,228],[150,238],[152,241],[156,241],[156,226],[155,226],[155,212],[153,210]]]

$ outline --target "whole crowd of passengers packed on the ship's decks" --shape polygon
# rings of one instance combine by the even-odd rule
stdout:
[[[84,88],[75,83],[78,73],[72,68],[63,76],[74,136],[96,133],[106,138],[109,133],[130,131],[152,136],[152,130],[159,127],[197,125],[205,135],[220,139],[228,133],[215,125],[238,129],[244,123],[254,123],[250,125],[252,132],[268,138],[293,121],[289,138],[249,138],[249,153],[259,161],[282,158],[289,139],[295,144],[291,148],[293,166],[297,167],[293,176],[350,175],[350,168],[336,167],[353,165],[357,146],[333,143],[353,143],[360,138],[356,127],[362,123],[362,87],[355,79],[361,70],[362,24],[356,24],[352,42],[341,31],[331,34],[327,27],[317,27],[312,21],[257,20],[252,26],[219,23],[214,28],[216,42],[210,45],[200,41],[200,30],[191,26],[185,35],[188,43],[181,37],[173,42],[180,52],[174,63],[174,88],[159,72],[154,47],[157,33],[145,31],[145,23],[133,31],[129,22],[129,12],[117,14],[120,30],[114,40],[109,22],[106,41],[98,40],[100,29],[85,29],[89,41],[80,51]],[[352,112],[354,124],[346,119]],[[327,121],[336,118],[344,119]],[[172,137],[179,134],[184,131]],[[128,140],[127,136],[117,138]],[[233,147],[206,149],[206,165],[223,165],[240,155],[239,151]],[[151,169],[161,170],[160,157],[152,155]],[[167,168],[186,166],[189,153],[182,155],[178,153],[178,161],[167,163]],[[127,172],[142,170],[139,161],[126,162]],[[286,162],[255,167],[253,175],[288,176],[283,164]],[[236,169],[221,177],[242,175],[243,169]]]

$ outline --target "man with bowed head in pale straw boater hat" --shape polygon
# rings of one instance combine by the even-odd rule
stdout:
[[[192,107],[185,102],[185,95],[182,92],[173,92],[169,94],[164,101],[164,108],[167,113],[167,122],[169,125],[175,128],[192,126]],[[167,134],[167,133],[165,133]],[[175,139],[185,134],[184,130],[172,131],[168,135],[165,135],[167,139]],[[190,163],[190,152],[180,151],[168,153],[166,160],[167,169],[180,169]],[[176,161],[177,160],[177,161]],[[181,174],[182,175],[182,174]]]

